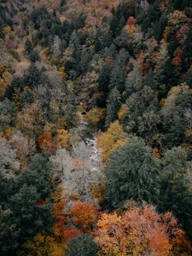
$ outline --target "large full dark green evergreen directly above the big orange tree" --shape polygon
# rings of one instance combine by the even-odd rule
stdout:
[[[110,208],[128,199],[156,203],[160,161],[142,139],[133,137],[111,155],[106,168],[106,201]]]

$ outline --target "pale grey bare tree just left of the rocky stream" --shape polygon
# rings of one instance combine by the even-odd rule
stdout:
[[[65,195],[77,194],[83,201],[94,201],[91,186],[102,183],[103,175],[95,164],[99,159],[94,159],[89,146],[80,142],[73,147],[72,155],[64,148],[58,149],[50,161],[55,181],[63,183]]]

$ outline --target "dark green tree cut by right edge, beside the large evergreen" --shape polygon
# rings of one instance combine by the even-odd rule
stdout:
[[[190,162],[182,148],[167,150],[162,158],[163,172],[160,188],[160,211],[172,211],[192,236],[192,193]]]

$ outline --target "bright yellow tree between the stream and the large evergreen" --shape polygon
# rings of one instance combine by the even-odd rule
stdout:
[[[125,132],[119,124],[119,120],[114,121],[107,131],[102,132],[97,137],[97,146],[102,151],[102,160],[107,162],[110,154],[125,143]]]

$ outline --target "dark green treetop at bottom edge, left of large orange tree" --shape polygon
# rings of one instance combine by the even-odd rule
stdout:
[[[66,256],[96,256],[99,246],[93,241],[92,236],[79,235],[67,242]]]

